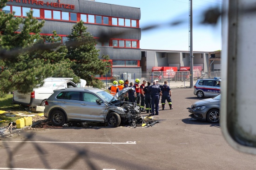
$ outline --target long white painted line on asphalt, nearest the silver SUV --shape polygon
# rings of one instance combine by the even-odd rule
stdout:
[[[131,142],[46,142],[46,141],[2,141],[2,142],[16,142],[16,143],[56,143],[56,144],[136,144],[136,141]]]

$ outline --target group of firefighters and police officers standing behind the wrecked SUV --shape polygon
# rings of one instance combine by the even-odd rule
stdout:
[[[134,89],[130,89],[128,91],[128,95],[125,98],[125,101],[137,103],[140,106],[140,111],[147,111],[147,113],[151,113],[149,116],[154,116],[159,114],[159,100],[161,98],[162,110],[165,109],[165,101],[167,100],[170,110],[173,109],[172,107],[172,100],[171,100],[171,89],[167,85],[167,81],[164,81],[164,85],[159,85],[158,80],[153,81],[153,85],[151,82],[148,81],[148,85],[146,85],[146,80],[142,81],[142,84],[139,85],[140,79],[135,79],[135,84],[130,83],[129,80],[125,80],[125,84],[123,80],[119,80],[118,82],[115,80],[113,81],[113,85],[108,88],[109,92],[115,96],[115,94],[127,87],[133,87]],[[150,86],[151,85],[151,86]],[[146,110],[144,106],[146,105]]]

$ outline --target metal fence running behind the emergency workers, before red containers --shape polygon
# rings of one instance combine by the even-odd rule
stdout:
[[[190,72],[113,72],[112,74],[106,74],[98,76],[107,86],[111,86],[114,80],[126,80],[129,82],[135,82],[136,78],[139,78],[141,81],[154,81],[156,79],[159,82],[164,81],[173,81],[173,82],[184,82],[189,81]],[[221,77],[221,72],[203,72],[203,71],[195,71],[193,72],[193,79],[197,80],[199,78],[215,78]]]

